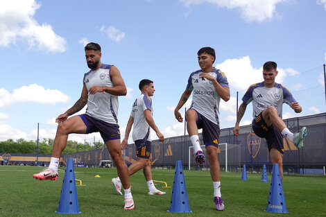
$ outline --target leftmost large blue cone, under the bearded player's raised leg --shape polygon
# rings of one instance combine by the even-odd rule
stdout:
[[[76,191],[74,163],[69,157],[66,166],[65,177],[62,182],[61,196],[57,214],[80,214]]]

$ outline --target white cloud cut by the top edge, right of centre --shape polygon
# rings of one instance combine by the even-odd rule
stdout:
[[[269,0],[262,3],[261,0],[179,0],[185,6],[198,5],[201,3],[211,3],[218,8],[228,8],[240,10],[245,21],[266,21],[274,17],[280,17],[276,12],[277,3],[287,0]],[[319,0],[325,1],[325,0]]]

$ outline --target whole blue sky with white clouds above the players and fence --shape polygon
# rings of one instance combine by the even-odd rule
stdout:
[[[261,66],[268,60],[277,62],[277,82],[295,89],[303,108],[295,114],[284,105],[284,118],[325,112],[323,96],[316,99],[320,104],[299,100],[307,85],[319,85],[324,93],[325,20],[326,0],[1,0],[0,141],[35,140],[37,123],[41,139],[54,138],[55,117],[80,97],[89,70],[87,42],[101,44],[102,62],[117,66],[128,87],[128,95],[119,97],[122,136],[143,78],[154,81],[158,128],[165,137],[184,133],[173,110],[189,74],[199,69],[196,53],[203,46],[216,50],[214,66],[230,83],[231,99],[221,103],[221,128],[234,126],[237,92],[241,103],[249,85],[262,81]],[[307,75],[311,69],[316,78]],[[242,125],[250,123],[251,114],[250,105]],[[69,139],[94,137],[101,140],[99,134]]]

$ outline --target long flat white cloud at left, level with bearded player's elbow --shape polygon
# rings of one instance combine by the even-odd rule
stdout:
[[[69,96],[57,89],[44,89],[37,84],[14,89],[12,94],[4,88],[0,89],[0,107],[9,106],[13,103],[65,103],[69,99]]]

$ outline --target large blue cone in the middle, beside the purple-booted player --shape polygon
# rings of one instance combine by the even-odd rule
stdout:
[[[185,176],[183,175],[181,161],[175,165],[174,181],[171,195],[171,205],[168,211],[171,212],[192,212],[189,209]]]

